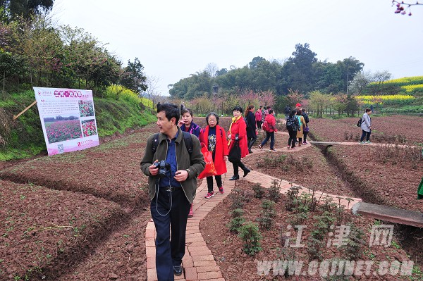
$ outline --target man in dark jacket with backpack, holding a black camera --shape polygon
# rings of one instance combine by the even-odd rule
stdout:
[[[148,177],[150,210],[156,227],[158,280],[174,280],[173,275],[183,273],[188,213],[197,190],[197,177],[205,166],[200,140],[194,135],[188,135],[192,144],[188,151],[184,137],[187,134],[178,126],[179,116],[175,104],[157,107],[160,132],[147,139],[140,163],[142,173]]]

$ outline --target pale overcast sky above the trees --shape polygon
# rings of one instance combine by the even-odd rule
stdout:
[[[412,16],[395,10],[391,0],[55,0],[53,17],[107,43],[123,65],[139,58],[167,95],[167,85],[208,63],[283,61],[298,43],[319,61],[353,56],[372,73],[423,75],[423,6],[412,6]]]

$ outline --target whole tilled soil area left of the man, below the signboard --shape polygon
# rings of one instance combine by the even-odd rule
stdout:
[[[0,269],[8,277],[0,280],[147,280],[151,216],[140,160],[154,132],[151,125],[84,151],[4,164]]]

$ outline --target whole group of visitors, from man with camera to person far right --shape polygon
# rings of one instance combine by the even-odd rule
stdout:
[[[286,106],[286,109],[290,109]],[[287,113],[288,112],[288,113]],[[295,149],[307,143],[309,117],[301,104],[285,111],[288,130],[288,149]],[[366,109],[362,115],[362,137],[360,144],[371,143],[372,110]],[[226,162],[233,165],[233,175],[229,180],[239,180],[239,169],[243,177],[250,173],[242,159],[252,153],[259,129],[265,129],[266,138],[258,145],[263,149],[270,140],[269,151],[275,151],[276,118],[270,106],[240,106],[233,108],[233,118],[226,131],[219,125],[219,115],[210,112],[206,116],[207,125],[201,128],[193,122],[194,115],[189,108],[178,108],[174,104],[157,106],[157,126],[159,133],[147,139],[145,155],[140,166],[149,183],[149,200],[152,219],[156,227],[156,270],[158,280],[174,280],[181,275],[182,258],[185,255],[185,232],[188,218],[193,216],[192,201],[197,190],[197,177],[206,163],[203,149],[212,153],[215,173],[205,176],[207,194],[215,196],[214,181],[219,193],[224,193],[222,175],[227,173]],[[364,138],[366,141],[364,142]],[[214,179],[213,179],[214,176]]]

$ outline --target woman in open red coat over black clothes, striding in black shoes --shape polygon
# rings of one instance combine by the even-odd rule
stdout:
[[[247,124],[245,124],[245,120],[243,118],[243,108],[240,106],[235,106],[233,108],[233,118],[231,127],[229,127],[228,131],[228,146],[229,146],[229,154],[231,154],[231,150],[233,149],[233,144],[238,142],[241,150],[241,158],[248,155],[248,146],[247,146]],[[250,169],[245,167],[241,160],[232,161],[233,165],[233,177],[229,180],[239,180],[240,176],[238,175],[238,167],[243,169],[244,177],[250,173]]]

